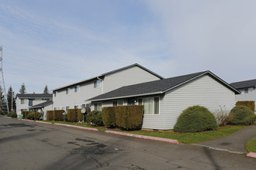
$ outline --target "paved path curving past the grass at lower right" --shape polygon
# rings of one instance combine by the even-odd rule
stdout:
[[[227,150],[230,152],[236,152],[240,154],[246,154],[245,144],[251,138],[256,137],[256,124],[253,124],[247,128],[243,128],[240,131],[230,134],[223,138],[214,139],[211,141],[199,142],[196,145],[202,145],[209,148],[216,148],[217,150]]]

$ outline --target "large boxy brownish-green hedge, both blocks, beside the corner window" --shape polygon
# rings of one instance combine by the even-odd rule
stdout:
[[[128,131],[137,130],[141,128],[143,114],[143,106],[103,107],[102,120],[108,127],[119,127]]]

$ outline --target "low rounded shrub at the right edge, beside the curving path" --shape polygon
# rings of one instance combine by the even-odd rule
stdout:
[[[254,111],[249,107],[236,106],[230,111],[231,124],[245,124],[245,117],[254,116]]]

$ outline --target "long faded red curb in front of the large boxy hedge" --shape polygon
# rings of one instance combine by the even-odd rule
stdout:
[[[119,132],[119,131],[105,131],[107,134],[119,134],[119,135],[123,135],[123,136],[129,136],[129,137],[133,137],[133,138],[142,138],[142,139],[147,139],[147,140],[152,140],[152,141],[164,141],[164,142],[168,142],[171,144],[178,144],[178,140],[175,139],[168,139],[168,138],[158,138],[158,137],[151,137],[151,136],[144,136],[144,135],[140,135],[140,134],[127,134],[127,133],[123,133],[123,132]]]

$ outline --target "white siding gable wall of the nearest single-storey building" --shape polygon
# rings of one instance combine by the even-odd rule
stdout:
[[[173,129],[178,116],[187,107],[200,105],[215,111],[221,107],[231,110],[235,94],[210,76],[202,76],[182,87],[171,90],[164,97],[164,129]]]

